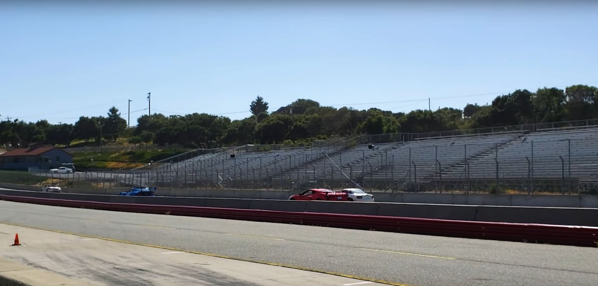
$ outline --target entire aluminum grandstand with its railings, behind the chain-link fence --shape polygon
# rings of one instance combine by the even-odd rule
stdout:
[[[364,135],[319,147],[194,150],[152,164],[156,185],[392,191],[560,192],[596,188],[598,126],[590,122],[438,133]]]

